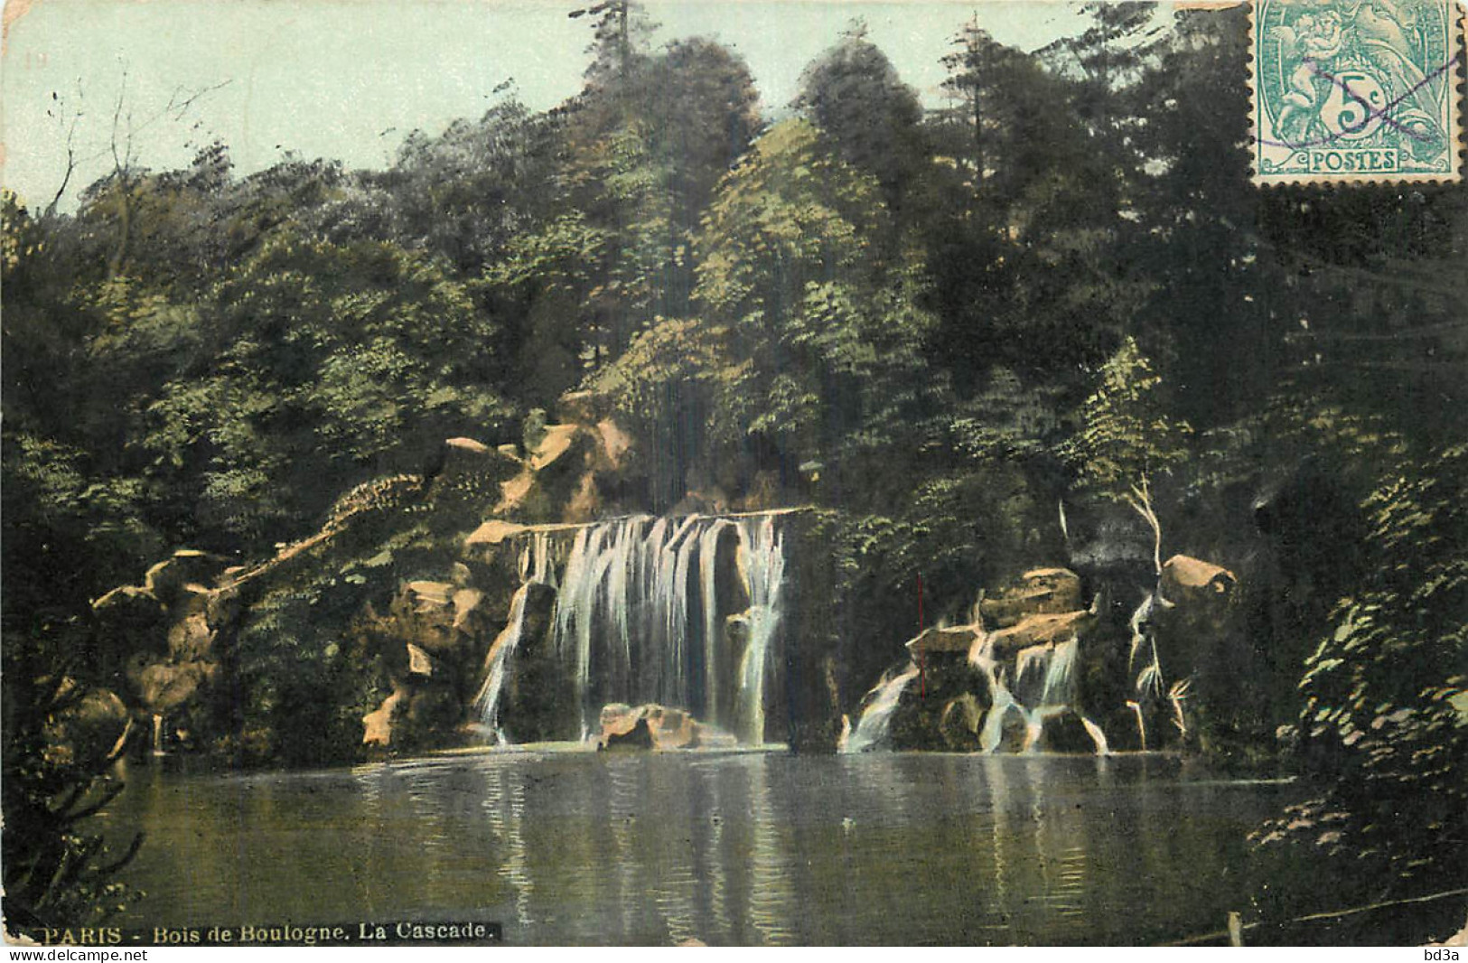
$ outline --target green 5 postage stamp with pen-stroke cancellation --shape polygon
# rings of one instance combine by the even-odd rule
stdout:
[[[1458,181],[1455,0],[1255,0],[1257,183]]]

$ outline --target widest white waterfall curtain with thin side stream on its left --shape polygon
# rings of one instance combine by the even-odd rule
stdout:
[[[543,545],[523,555],[526,584],[556,584],[548,556]],[[603,705],[658,702],[744,743],[765,741],[768,703],[780,691],[784,578],[774,514],[633,515],[580,528],[558,580],[550,652],[574,680],[583,738]],[[487,664],[482,690],[486,725],[496,724],[495,687],[518,644],[523,608],[512,603],[490,650],[499,661]]]

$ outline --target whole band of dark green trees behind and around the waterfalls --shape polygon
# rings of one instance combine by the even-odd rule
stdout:
[[[506,97],[386,170],[236,176],[214,144],[119,164],[75,214],[6,195],[7,816],[40,738],[12,655],[100,680],[90,602],[163,553],[269,555],[590,390],[637,442],[614,508],[840,515],[832,631],[885,646],[853,688],[916,575],[957,611],[1057,556],[1058,504],[1145,492],[1166,552],[1257,587],[1246,659],[1198,699],[1208,750],[1283,735],[1320,787],[1261,843],[1373,897],[1449,879],[1462,186],[1252,186],[1242,7],[1101,4],[1036,53],[975,21],[941,109],[853,23],[778,122],[716,41],[597,10],[577,97]]]

